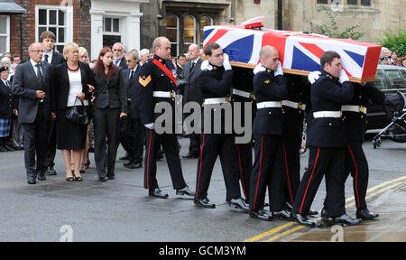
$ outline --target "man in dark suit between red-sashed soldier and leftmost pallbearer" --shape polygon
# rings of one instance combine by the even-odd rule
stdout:
[[[183,95],[183,104],[197,102],[201,106],[203,98],[201,96],[199,77],[201,74],[200,66],[203,60],[199,57],[198,45],[192,44],[189,46],[189,59],[190,61],[183,68],[183,79],[186,81],[186,86],[181,93]],[[185,113],[185,116],[189,116],[189,113]],[[190,138],[189,153],[183,156],[183,158],[198,158],[200,153],[200,135],[197,133],[187,134],[189,134]]]

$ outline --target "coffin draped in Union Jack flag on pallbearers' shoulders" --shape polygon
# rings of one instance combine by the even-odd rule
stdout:
[[[261,48],[271,45],[279,51],[283,71],[299,75],[321,70],[321,55],[325,51],[337,51],[351,81],[366,82],[375,79],[381,46],[312,33],[245,29],[246,27],[244,24],[206,26],[204,46],[209,42],[217,42],[229,55],[233,66],[254,68],[260,62]]]

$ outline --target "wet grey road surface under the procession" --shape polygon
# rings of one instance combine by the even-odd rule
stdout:
[[[181,138],[180,144],[180,154],[186,154],[189,141]],[[157,178],[170,198],[159,200],[143,189],[143,169],[128,170],[118,160],[115,181],[97,181],[91,154],[84,181],[69,182],[59,151],[58,175],[28,185],[23,152],[0,153],[0,241],[330,241],[336,234],[344,241],[406,241],[402,182],[406,177],[399,180],[406,175],[405,145],[384,141],[374,150],[369,142],[364,144],[371,172],[368,187],[374,188],[368,193],[373,195],[368,204],[381,218],[333,233],[331,228],[302,228],[294,222],[257,221],[230,209],[218,161],[208,190],[217,208],[200,209],[192,200],[175,195],[165,160],[158,163]],[[123,154],[120,146],[117,157]],[[301,156],[302,171],[307,156]],[[194,190],[198,161],[182,159],[181,163],[185,180]],[[351,181],[346,182],[346,198],[353,196]],[[323,181],[312,208],[321,209],[325,194]],[[353,216],[354,208],[348,208]]]

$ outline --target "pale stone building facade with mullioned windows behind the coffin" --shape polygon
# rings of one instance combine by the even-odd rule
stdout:
[[[329,24],[326,10],[338,32],[359,25],[363,42],[379,43],[383,32],[406,28],[406,0],[150,0],[141,5],[141,46],[151,47],[154,37],[166,35],[174,56],[190,43],[201,46],[206,24],[240,24],[256,16],[265,16],[265,28],[317,32],[316,25]]]

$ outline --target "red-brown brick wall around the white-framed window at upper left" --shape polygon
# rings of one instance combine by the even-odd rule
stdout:
[[[28,57],[28,46],[35,42],[35,5],[60,5],[62,0],[16,0],[17,5],[21,5],[27,10],[23,15],[11,15],[10,31],[11,42],[10,51],[21,54],[23,45],[23,59]],[[69,2],[69,1],[68,1]],[[73,3],[73,41],[79,46],[88,49],[90,53],[90,0],[72,0]],[[20,21],[23,19],[23,42],[20,38]]]

